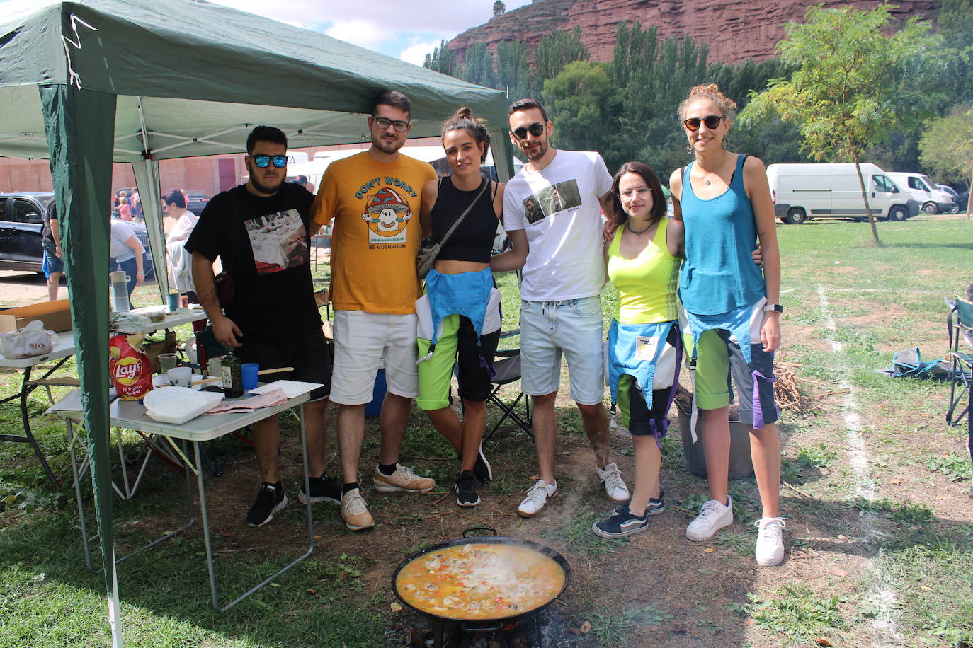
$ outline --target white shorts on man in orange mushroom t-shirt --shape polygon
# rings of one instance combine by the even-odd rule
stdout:
[[[341,405],[371,402],[382,367],[389,392],[415,398],[419,395],[415,355],[414,314],[335,311],[331,401]]]

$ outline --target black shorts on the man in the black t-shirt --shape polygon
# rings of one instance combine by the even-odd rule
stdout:
[[[276,344],[247,344],[244,341],[242,347],[234,350],[234,354],[241,362],[256,362],[262,370],[294,367],[294,371],[261,376],[262,382],[270,383],[286,378],[323,385],[310,392],[310,400],[327,398],[331,393],[331,355],[320,328],[315,328],[305,336],[293,337]]]

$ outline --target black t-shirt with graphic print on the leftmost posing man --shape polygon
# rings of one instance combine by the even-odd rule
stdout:
[[[227,317],[243,342],[276,343],[321,327],[310,276],[308,213],[314,196],[283,183],[272,196],[239,185],[213,196],[186,250],[217,256],[234,278]]]

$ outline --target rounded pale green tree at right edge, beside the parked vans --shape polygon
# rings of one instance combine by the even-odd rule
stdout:
[[[959,177],[973,188],[973,106],[956,106],[947,116],[932,119],[919,141],[922,163],[937,173]],[[973,200],[966,203],[969,220]]]

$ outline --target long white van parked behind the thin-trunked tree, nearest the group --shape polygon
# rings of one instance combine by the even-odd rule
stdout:
[[[875,218],[905,221],[919,214],[919,201],[897,187],[878,166],[862,162],[861,175]],[[781,222],[800,224],[822,217],[868,219],[854,164],[771,164],[767,179],[775,216]]]

